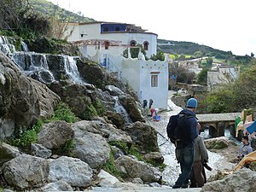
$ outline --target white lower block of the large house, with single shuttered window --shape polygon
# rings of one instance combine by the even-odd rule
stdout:
[[[151,76],[158,75],[158,86],[151,86]],[[143,61],[137,58],[125,59],[123,76],[131,87],[141,96],[141,100],[153,99],[152,108],[167,108],[168,100],[168,62]]]

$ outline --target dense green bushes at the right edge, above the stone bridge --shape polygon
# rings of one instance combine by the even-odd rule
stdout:
[[[239,112],[256,108],[256,66],[248,68],[233,83],[207,95],[204,104],[207,113]]]

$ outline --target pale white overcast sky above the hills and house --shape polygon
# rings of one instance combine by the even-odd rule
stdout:
[[[47,0],[98,21],[142,26],[158,38],[256,55],[255,0]]]

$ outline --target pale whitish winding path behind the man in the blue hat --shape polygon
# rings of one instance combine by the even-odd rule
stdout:
[[[168,105],[172,110],[160,113],[161,119],[160,121],[149,121],[149,124],[154,126],[156,131],[159,132],[158,134],[158,143],[160,146],[160,152],[163,154],[166,164],[166,169],[163,172],[163,180],[168,185],[173,185],[178,177],[178,174],[180,173],[180,167],[179,164],[177,164],[177,160],[175,158],[175,147],[173,144],[171,144],[169,141],[166,142],[167,134],[166,134],[166,125],[168,124],[169,118],[173,114],[179,113],[182,108],[177,107],[171,100],[173,92],[169,92],[169,100]],[[196,113],[196,112],[195,112]],[[205,133],[207,136],[207,132]],[[234,168],[234,165],[230,162],[227,162],[224,160],[224,156],[221,156],[219,154],[212,153],[208,151],[209,154],[209,163],[208,165],[212,167],[212,172],[207,172],[207,177],[210,177],[212,175],[215,175],[218,170],[224,170],[224,169],[232,169]]]

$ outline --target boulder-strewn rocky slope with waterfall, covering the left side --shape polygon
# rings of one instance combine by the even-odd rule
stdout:
[[[157,132],[144,123],[135,94],[96,63],[79,58],[76,64],[79,81],[65,55],[0,51],[2,185],[82,190],[98,184],[103,169],[120,181],[160,183],[160,169],[147,163],[163,163]],[[76,122],[50,119],[60,102]],[[36,141],[13,146],[10,141],[33,130],[38,119]]]

